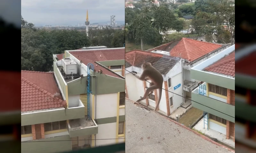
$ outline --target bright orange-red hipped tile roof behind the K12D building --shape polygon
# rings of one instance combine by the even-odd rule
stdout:
[[[150,52],[155,49],[162,50],[170,52],[171,56],[181,56],[182,58],[192,62],[208,53],[211,53],[212,51],[220,47],[222,47],[222,45],[220,44],[182,38],[180,40],[172,41],[167,44],[152,49],[148,49],[146,51]]]

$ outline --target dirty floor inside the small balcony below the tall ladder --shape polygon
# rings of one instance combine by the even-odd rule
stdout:
[[[87,120],[87,117],[81,119],[69,120],[70,130],[95,126],[92,120]]]

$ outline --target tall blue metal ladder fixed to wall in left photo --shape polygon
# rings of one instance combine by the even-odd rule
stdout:
[[[91,69],[90,69],[91,67]],[[90,108],[90,93],[92,93],[91,91],[91,80],[90,80],[90,70],[94,70],[94,65],[92,63],[88,63],[87,64],[87,118],[88,120],[91,120],[91,108]]]

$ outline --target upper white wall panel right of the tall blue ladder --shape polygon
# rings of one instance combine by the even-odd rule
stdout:
[[[97,109],[96,119],[115,117],[117,114],[117,93],[97,95],[97,102],[94,102],[94,104]]]

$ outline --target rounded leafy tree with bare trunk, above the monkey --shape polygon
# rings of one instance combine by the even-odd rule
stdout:
[[[146,40],[147,37],[151,37],[150,31],[153,31],[154,29],[151,26],[150,20],[146,18],[144,13],[137,15],[132,24],[136,31],[135,40],[140,40],[141,50],[143,50],[143,40]]]

